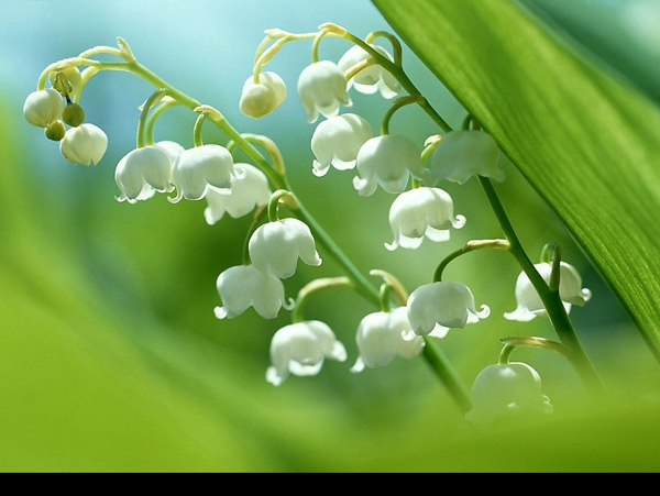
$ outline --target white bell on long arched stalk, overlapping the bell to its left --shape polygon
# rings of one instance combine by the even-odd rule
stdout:
[[[476,310],[468,286],[442,280],[418,287],[408,297],[408,320],[416,334],[429,334],[436,327],[463,328],[491,313],[486,305]]]

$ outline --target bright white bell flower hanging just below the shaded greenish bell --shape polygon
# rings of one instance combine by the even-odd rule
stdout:
[[[394,233],[387,250],[397,246],[417,249],[424,238],[431,241],[449,240],[449,229],[465,225],[463,216],[453,214],[451,196],[439,188],[416,188],[402,192],[389,208],[389,227]]]

